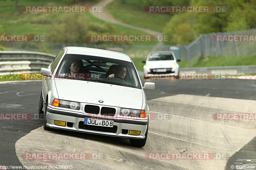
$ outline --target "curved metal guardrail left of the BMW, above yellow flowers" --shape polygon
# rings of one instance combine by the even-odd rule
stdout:
[[[25,67],[23,65],[20,66],[19,71],[35,71],[35,70],[40,70],[42,67],[46,68],[54,59],[55,55],[52,54],[47,54],[47,53],[41,53],[41,52],[31,52],[31,51],[0,51],[0,73],[1,75],[6,75],[13,73],[13,71],[17,70],[15,69],[15,65],[17,63],[13,63],[11,67],[6,66],[3,61],[29,61],[29,67],[28,68],[23,68]],[[21,62],[22,63],[22,62]],[[10,64],[9,64],[10,65]],[[8,69],[1,70],[1,68],[7,67]],[[12,69],[13,68],[13,69]]]

